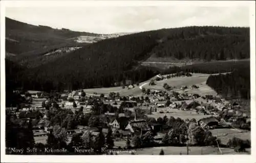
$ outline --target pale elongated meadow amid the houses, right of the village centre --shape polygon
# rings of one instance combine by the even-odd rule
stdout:
[[[167,116],[167,118],[169,118],[170,116],[173,116],[174,118],[181,118],[183,120],[185,119],[192,119],[195,118],[197,121],[202,119],[202,118],[206,118],[206,117],[210,117],[210,116],[215,116],[215,115],[201,115],[201,114],[197,114],[196,111],[181,111],[178,109],[174,109],[174,110],[170,110],[169,108],[162,108],[160,109],[161,111],[165,112],[165,113],[159,113],[159,112],[152,112],[152,115],[147,115],[148,117],[153,117],[153,118],[163,118],[165,115]],[[166,112],[169,113],[166,113]]]

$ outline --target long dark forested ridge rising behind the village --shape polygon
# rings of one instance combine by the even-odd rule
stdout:
[[[14,27],[10,29],[12,28]],[[47,27],[41,28],[49,30]],[[62,32],[59,35],[59,31],[46,31],[55,40],[59,37],[71,37],[69,31]],[[14,30],[9,33],[16,32]],[[58,33],[58,37],[55,33]],[[19,42],[34,38],[26,30],[23,34],[17,34],[19,35],[23,38]],[[73,36],[76,33],[72,33]],[[42,39],[35,41],[39,42],[38,47],[44,47],[45,43],[52,44],[44,38],[42,36]],[[133,83],[137,83],[159,73],[159,70],[140,66],[138,62],[152,55],[204,61],[249,58],[249,28],[190,26],[162,29],[99,41],[54,60],[45,61],[44,57],[31,59],[31,55],[28,55],[26,62],[23,62],[27,65],[24,66],[33,64],[33,68],[22,72],[26,76],[26,82],[22,79],[19,86],[36,90],[62,90],[110,87],[125,79],[132,79]]]

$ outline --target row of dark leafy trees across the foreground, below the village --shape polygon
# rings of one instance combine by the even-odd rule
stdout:
[[[62,115],[62,114],[60,114]],[[51,116],[49,116],[51,117]],[[55,119],[55,120],[54,120]],[[103,133],[99,127],[99,132],[95,135],[90,131],[85,131],[81,134],[77,133],[71,136],[71,141],[68,142],[67,126],[59,125],[56,121],[59,118],[51,118],[52,127],[48,134],[47,143],[35,143],[32,132],[31,121],[24,121],[22,124],[17,123],[11,114],[7,114],[6,126],[6,146],[8,148],[37,148],[37,153],[33,154],[56,154],[58,151],[45,151],[45,148],[65,149],[67,152],[59,152],[59,154],[74,154],[76,148],[79,149],[94,149],[93,151],[84,151],[80,154],[103,154],[102,148],[113,149],[114,139],[117,134],[111,128],[108,132]],[[64,119],[67,119],[64,117]],[[153,120],[148,118],[148,122],[164,124],[166,126],[162,143],[157,143],[154,140],[154,132],[148,131],[143,135],[134,135],[133,137],[125,138],[125,149],[137,149],[156,146],[223,146],[221,141],[214,137],[210,131],[202,129],[195,119],[182,120],[174,117],[164,117]],[[55,123],[54,123],[55,122]],[[63,121],[64,123],[64,121]],[[69,124],[68,124],[69,125]],[[90,125],[89,125],[90,126]],[[227,147],[234,148],[237,152],[244,152],[246,148],[250,148],[250,141],[242,141],[237,138],[230,139]],[[225,146],[223,146],[225,147]],[[119,147],[120,148],[120,147]],[[163,155],[164,152],[161,152]],[[18,153],[17,153],[18,154]],[[31,154],[31,153],[23,153]],[[77,154],[77,153],[76,153]]]

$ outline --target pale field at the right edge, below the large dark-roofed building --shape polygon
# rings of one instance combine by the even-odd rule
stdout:
[[[227,144],[229,139],[233,137],[240,138],[242,140],[251,140],[251,132],[241,129],[229,129],[229,128],[218,128],[210,130],[213,135],[216,135],[221,143]],[[241,132],[242,131],[242,132]]]

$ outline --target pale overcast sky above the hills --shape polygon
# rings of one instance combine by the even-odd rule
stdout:
[[[6,16],[34,25],[101,34],[191,25],[249,26],[248,7],[6,8]]]

